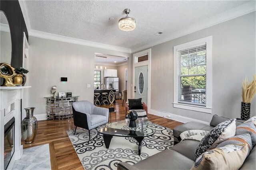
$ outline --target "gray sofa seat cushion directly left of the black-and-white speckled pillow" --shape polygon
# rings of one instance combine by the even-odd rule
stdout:
[[[196,148],[199,145],[199,141],[194,140],[184,140],[172,147],[172,150],[183,154],[184,156],[190,158],[195,161],[195,152]]]

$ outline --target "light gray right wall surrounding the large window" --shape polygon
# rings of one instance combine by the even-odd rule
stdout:
[[[242,80],[256,73],[256,12],[151,47],[151,108],[202,121],[240,117]],[[173,46],[212,35],[212,114],[173,107]],[[159,83],[162,82],[162,83]],[[256,115],[256,99],[251,115]],[[166,113],[166,114],[167,114]]]

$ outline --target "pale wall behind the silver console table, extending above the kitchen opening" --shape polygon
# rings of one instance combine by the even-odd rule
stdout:
[[[80,96],[78,100],[93,102],[94,84],[94,53],[121,55],[122,53],[107,49],[88,47],[29,37],[29,85],[30,107],[36,107],[34,114],[46,114],[45,96],[52,96],[52,86],[58,92],[72,92]],[[67,82],[60,82],[60,77],[67,77]],[[91,88],[87,88],[87,84]],[[40,116],[38,116],[41,119]]]

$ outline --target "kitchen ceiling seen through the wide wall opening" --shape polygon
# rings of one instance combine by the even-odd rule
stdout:
[[[102,57],[98,57],[98,56],[102,56]],[[127,63],[127,58],[122,57],[122,56],[114,56],[114,55],[95,53],[94,61],[95,61],[95,63],[106,63],[106,64],[111,64],[111,65],[118,65],[120,63]]]

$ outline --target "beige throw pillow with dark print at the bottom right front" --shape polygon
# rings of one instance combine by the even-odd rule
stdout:
[[[200,155],[190,170],[238,170],[248,152],[246,144],[227,145]]]

